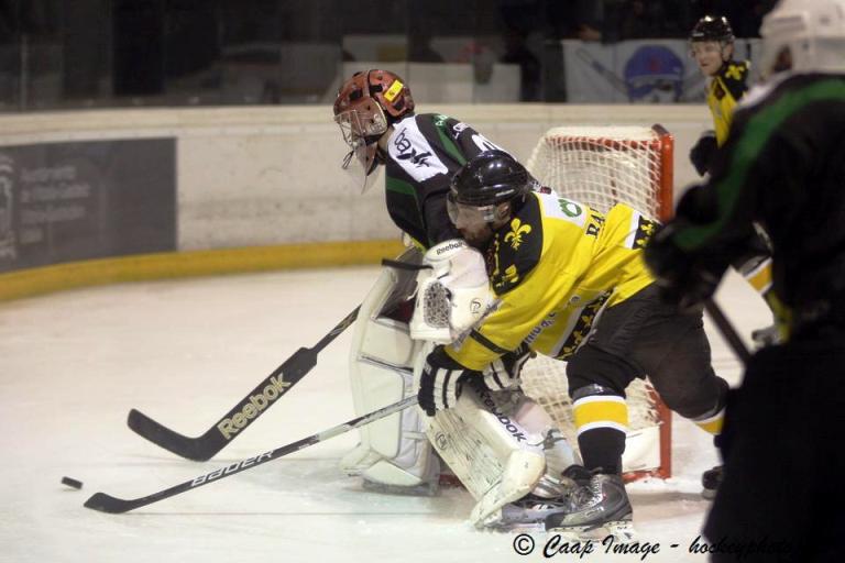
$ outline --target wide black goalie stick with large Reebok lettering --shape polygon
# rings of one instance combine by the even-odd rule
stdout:
[[[210,460],[317,365],[317,354],[355,321],[359,309],[361,306],[355,307],[354,311],[322,336],[314,347],[300,347],[294,352],[294,355],[285,360],[223,418],[198,438],[174,432],[136,409],[129,411],[127,424],[141,437],[176,455],[198,462]]]

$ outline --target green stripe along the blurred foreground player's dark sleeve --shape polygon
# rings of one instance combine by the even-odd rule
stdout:
[[[805,106],[828,99],[845,101],[845,81],[825,80],[787,92],[780,100],[749,119],[745,132],[734,145],[734,152],[731,155],[731,173],[715,186],[718,219],[709,225],[691,227],[679,232],[676,236],[678,246],[687,251],[700,249],[711,236],[720,232],[734,210],[751,166],[757,162],[757,157],[775,131]]]

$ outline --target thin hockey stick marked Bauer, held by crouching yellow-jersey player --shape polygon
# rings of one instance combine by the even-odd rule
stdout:
[[[231,477],[235,473],[241,473],[242,471],[251,470],[263,463],[277,460],[287,454],[298,452],[299,450],[304,450],[309,445],[320,443],[325,440],[328,440],[329,438],[334,438],[336,435],[340,435],[354,428],[369,424],[370,422],[374,422],[378,419],[393,415],[394,412],[404,410],[416,404],[417,404],[416,395],[406,397],[405,399],[398,402],[388,405],[384,408],[370,412],[369,415],[353,418],[352,420],[343,422],[342,424],[338,424],[337,427],[330,428],[328,430],[323,430],[322,432],[319,432],[317,434],[309,435],[308,438],[304,438],[297,442],[283,445],[281,448],[276,448],[275,450],[271,450],[270,452],[265,452],[260,455],[253,455],[252,457],[241,460],[240,462],[232,463],[230,465],[227,465],[226,467],[220,467],[210,473],[204,473],[199,477],[196,477],[191,481],[186,481],[180,485],[176,485],[174,487],[160,490],[158,493],[153,493],[152,495],[147,495],[145,497],[125,499],[125,498],[112,497],[111,495],[107,495],[106,493],[95,493],[94,495],[91,495],[91,497],[88,500],[85,501],[85,507],[91,508],[94,510],[99,510],[100,512],[108,512],[111,515],[128,512],[130,510],[134,510],[135,508],[140,508],[146,505],[152,505],[153,503],[157,503],[158,500],[164,500],[165,498],[169,498],[172,496],[179,495],[188,490],[193,490],[197,487],[201,487],[202,485],[208,485],[209,483],[220,481],[223,477]]]

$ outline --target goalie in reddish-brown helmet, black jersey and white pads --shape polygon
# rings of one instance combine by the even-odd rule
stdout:
[[[343,167],[356,172],[364,188],[377,177],[376,169],[384,167],[387,211],[414,242],[399,261],[428,266],[419,277],[410,269],[383,268],[361,306],[352,335],[350,379],[355,412],[363,415],[415,393],[414,369],[421,367],[418,360],[426,357],[431,342],[451,341],[486,309],[490,289],[484,260],[458,240],[460,233],[449,220],[447,196],[452,176],[465,162],[498,146],[457,119],[415,113],[407,84],[388,70],[371,69],[351,76],[340,87],[333,112],[349,145]],[[432,298],[415,299],[416,288],[419,295]],[[440,302],[438,296],[446,296],[448,302]],[[431,321],[440,319],[435,314],[440,311],[447,312],[442,324]],[[504,362],[491,366],[491,380],[505,364],[515,372],[526,358],[524,351],[512,351]],[[489,407],[470,406],[473,420],[480,422],[467,435],[486,437],[493,444],[491,451],[505,460],[534,462],[533,472],[502,481],[501,474],[485,474],[498,471],[496,464],[490,463],[483,471],[468,475],[452,465],[448,453],[439,452],[479,499],[478,510],[471,516],[479,526],[484,526],[502,505],[529,492],[547,498],[559,496],[559,476],[574,461],[572,449],[556,432],[542,408],[519,390],[507,393],[515,397],[508,401],[508,409],[519,406],[519,415],[511,420],[494,416]],[[503,419],[513,428],[524,429],[520,432],[530,437],[530,444],[514,442],[504,430]],[[431,494],[437,489],[440,470],[427,438],[432,428],[417,409],[363,427],[361,443],[344,455],[341,470],[363,477],[367,489]],[[478,445],[461,432],[457,434],[450,442],[454,451],[464,451],[461,448],[465,446],[468,455],[475,455]],[[502,486],[495,490],[481,486],[496,482]]]

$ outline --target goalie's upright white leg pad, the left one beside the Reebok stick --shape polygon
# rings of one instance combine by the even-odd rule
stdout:
[[[418,260],[416,251],[400,257],[403,262]],[[406,307],[415,286],[413,272],[383,268],[361,305],[349,361],[356,415],[372,412],[415,393],[413,366],[422,343],[410,339],[407,319],[413,307]],[[400,312],[403,309],[407,313]],[[397,412],[359,431],[361,443],[341,460],[345,473],[388,487],[437,483],[439,464],[417,409]]]

